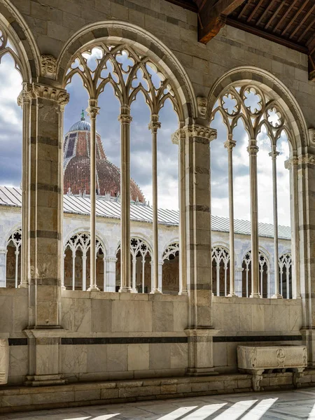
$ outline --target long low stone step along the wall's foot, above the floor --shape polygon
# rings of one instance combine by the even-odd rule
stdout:
[[[291,372],[267,373],[262,377],[264,391],[293,388]],[[315,370],[306,370],[302,379],[301,386],[314,386]],[[251,391],[251,375],[240,373],[210,377],[85,382],[36,388],[1,386],[0,413]]]

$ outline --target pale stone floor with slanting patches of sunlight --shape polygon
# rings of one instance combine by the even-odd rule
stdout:
[[[315,419],[315,388],[3,414],[1,420]]]

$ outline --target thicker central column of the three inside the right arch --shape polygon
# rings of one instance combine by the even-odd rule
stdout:
[[[255,139],[251,139],[247,148],[249,155],[249,177],[251,185],[251,297],[261,297],[259,293],[259,243],[258,243],[258,182],[257,153]]]

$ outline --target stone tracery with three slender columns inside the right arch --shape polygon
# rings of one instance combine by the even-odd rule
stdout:
[[[262,290],[262,276],[260,253],[258,253],[258,181],[257,181],[257,153],[258,153],[258,134],[265,130],[269,137],[272,158],[272,195],[273,195],[273,216],[274,216],[274,261],[278,260],[279,239],[278,239],[278,203],[277,203],[277,181],[276,181],[276,151],[277,141],[283,133],[286,134],[288,141],[291,141],[291,127],[286,114],[279,102],[272,96],[272,91],[265,90],[263,87],[251,83],[239,83],[229,85],[218,97],[214,109],[211,113],[211,120],[216,113],[220,113],[223,123],[228,130],[228,140],[224,146],[228,150],[228,172],[229,172],[229,210],[230,210],[230,249],[231,266],[230,270],[230,295],[235,295],[235,269],[234,269],[234,193],[233,193],[233,159],[232,150],[237,142],[233,139],[233,130],[239,120],[244,123],[244,128],[248,134],[248,155],[250,172],[250,200],[251,200],[251,249],[253,251],[253,263],[251,272],[253,275],[252,297],[259,297],[259,290]],[[292,153],[292,151],[291,151]],[[295,222],[296,223],[296,222]],[[246,270],[248,266],[246,265]],[[247,271],[246,271],[247,273]],[[268,274],[269,275],[269,274]],[[246,280],[246,295],[248,295],[248,279]],[[268,292],[269,296],[269,282]],[[274,271],[274,295],[279,294],[279,272]]]

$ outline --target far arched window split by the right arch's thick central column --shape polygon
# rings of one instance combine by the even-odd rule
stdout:
[[[259,288],[260,297],[270,297],[270,267],[269,261],[262,251],[259,251]],[[242,296],[250,297],[253,293],[252,285],[252,258],[251,251],[246,252],[242,263]]]

